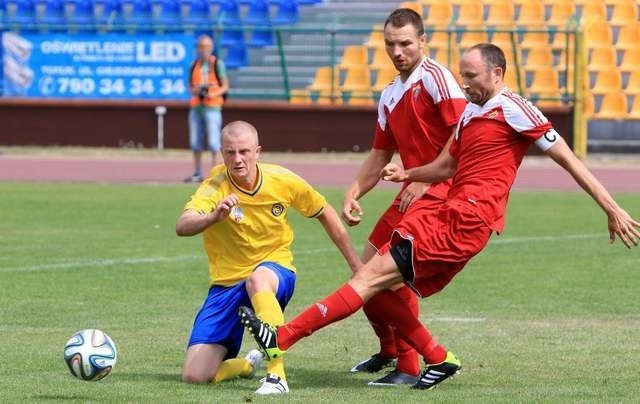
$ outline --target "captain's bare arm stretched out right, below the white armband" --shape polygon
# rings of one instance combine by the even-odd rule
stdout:
[[[585,167],[585,165],[573,154],[564,139],[558,136],[555,144],[546,151],[558,165],[564,168],[573,179],[600,205],[607,214],[609,239],[611,243],[616,240],[616,236],[627,246],[637,246],[640,240],[640,223],[634,220],[624,209],[622,209],[611,194],[598,181],[596,177]]]

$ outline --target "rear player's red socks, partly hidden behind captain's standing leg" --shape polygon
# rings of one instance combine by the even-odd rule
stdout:
[[[395,290],[393,293],[405,300],[411,309],[411,314],[418,317],[418,296],[406,286]],[[384,300],[384,299],[382,299]],[[371,322],[371,326],[380,339],[380,355],[385,358],[398,358],[397,369],[401,372],[418,375],[420,362],[417,352],[402,340],[391,326],[391,319],[384,306],[375,297],[364,305],[364,312]]]

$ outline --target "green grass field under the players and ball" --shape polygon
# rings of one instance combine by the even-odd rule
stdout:
[[[258,381],[179,382],[193,316],[207,290],[199,237],[178,238],[182,185],[0,183],[0,401],[249,402]],[[337,205],[341,190],[324,189]],[[391,199],[365,199],[364,241]],[[617,195],[636,217],[640,195]],[[299,312],[348,276],[319,224],[292,217]],[[640,251],[610,246],[606,220],[577,193],[512,195],[494,236],[421,317],[463,361],[433,392],[366,387],[347,374],[374,353],[364,316],[302,341],[287,357],[294,402],[637,402]],[[62,346],[101,328],[119,349],[107,379],[81,382]],[[242,353],[253,347],[246,338]]]

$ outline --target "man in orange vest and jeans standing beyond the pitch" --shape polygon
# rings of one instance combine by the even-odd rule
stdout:
[[[193,151],[193,175],[185,182],[201,182],[202,150],[211,150],[213,165],[222,163],[220,130],[222,105],[229,91],[229,80],[222,60],[213,55],[213,40],[207,35],[198,37],[196,60],[189,70],[189,143]]]

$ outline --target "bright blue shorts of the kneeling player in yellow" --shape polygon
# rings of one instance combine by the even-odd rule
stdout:
[[[258,266],[269,268],[278,277],[276,299],[284,310],[293,296],[296,285],[295,272],[275,262],[263,262],[256,268]],[[253,307],[247,293],[246,281],[233,286],[212,286],[193,322],[189,346],[220,344],[227,348],[225,359],[238,356],[244,333],[238,316],[240,306]]]

